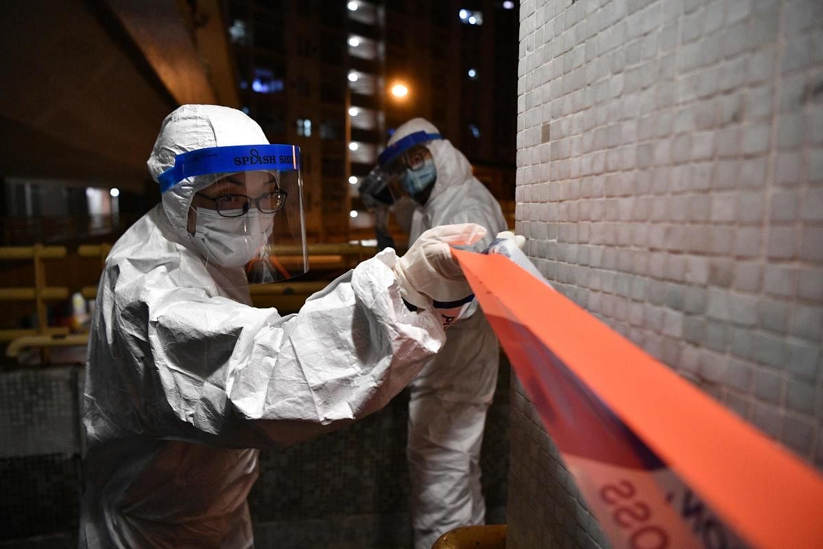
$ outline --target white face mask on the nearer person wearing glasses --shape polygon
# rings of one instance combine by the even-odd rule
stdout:
[[[238,217],[224,217],[216,210],[197,208],[192,242],[207,261],[223,267],[243,267],[255,258],[272,235],[274,214],[256,207]]]

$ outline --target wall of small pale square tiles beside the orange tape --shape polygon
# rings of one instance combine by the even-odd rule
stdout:
[[[823,3],[525,0],[520,21],[529,256],[823,468]],[[517,402],[509,547],[600,547]]]

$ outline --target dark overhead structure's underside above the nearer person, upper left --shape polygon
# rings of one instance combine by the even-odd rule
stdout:
[[[172,109],[239,106],[219,2],[0,2],[0,176],[140,192]]]

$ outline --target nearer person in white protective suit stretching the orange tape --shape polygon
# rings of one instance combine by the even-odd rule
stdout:
[[[81,547],[253,547],[258,449],[383,407],[442,345],[427,307],[470,291],[448,243],[472,244],[479,226],[429,231],[402,258],[384,250],[299,314],[250,305],[249,277],[305,270],[299,158],[235,109],[184,105],[163,122],[147,162],[162,201],[100,277]],[[274,257],[283,243],[303,257]]]

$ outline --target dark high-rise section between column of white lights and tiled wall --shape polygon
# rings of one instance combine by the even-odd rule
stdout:
[[[386,103],[387,132],[423,116],[472,162],[501,200],[514,200],[518,14],[514,2],[386,2],[386,77],[405,101]],[[389,84],[391,86],[391,84]]]

